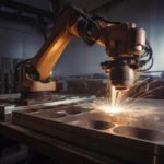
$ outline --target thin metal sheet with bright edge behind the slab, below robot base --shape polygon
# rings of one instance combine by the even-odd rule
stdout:
[[[20,104],[19,94],[4,94],[0,96],[0,121],[11,121],[12,112],[22,109],[40,109],[50,106],[67,105],[94,99],[95,96],[78,96],[69,94],[55,94],[51,98],[26,99]]]

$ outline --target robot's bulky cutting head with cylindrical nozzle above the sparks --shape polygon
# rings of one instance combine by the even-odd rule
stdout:
[[[149,56],[150,52],[144,30],[137,28],[133,24],[109,26],[104,30],[104,38],[110,60],[102,62],[102,68],[109,73],[110,84],[116,90],[130,89],[140,68],[149,62],[141,60],[144,54]]]

